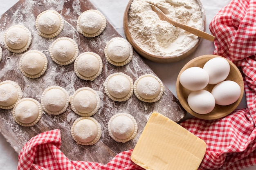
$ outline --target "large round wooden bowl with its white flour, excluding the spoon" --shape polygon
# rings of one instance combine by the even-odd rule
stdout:
[[[206,19],[200,0],[180,0],[181,5],[159,0],[130,0],[123,24],[126,39],[135,51],[158,63],[177,62],[193,53],[202,38],[160,20],[148,2],[168,13],[169,18],[205,31]]]

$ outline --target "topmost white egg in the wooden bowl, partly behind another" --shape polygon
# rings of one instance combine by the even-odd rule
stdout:
[[[215,57],[207,61],[203,69],[209,74],[209,84],[218,84],[229,75],[229,62],[222,57]]]

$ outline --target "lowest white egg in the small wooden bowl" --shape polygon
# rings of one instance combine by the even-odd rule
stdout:
[[[188,96],[189,107],[198,114],[210,113],[215,107],[213,95],[206,90],[192,91]]]

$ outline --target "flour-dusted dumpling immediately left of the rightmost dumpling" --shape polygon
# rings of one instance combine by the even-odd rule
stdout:
[[[133,94],[133,81],[124,73],[114,73],[104,82],[104,90],[110,99],[124,102]]]

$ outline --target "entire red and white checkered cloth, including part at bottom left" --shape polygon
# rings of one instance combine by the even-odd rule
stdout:
[[[207,143],[200,170],[239,170],[256,165],[256,1],[232,0],[210,23],[213,54],[241,67],[247,108],[217,120],[188,119],[181,125]],[[72,161],[59,149],[60,130],[31,138],[18,155],[18,170],[143,170],[130,160],[132,149],[109,163]]]

